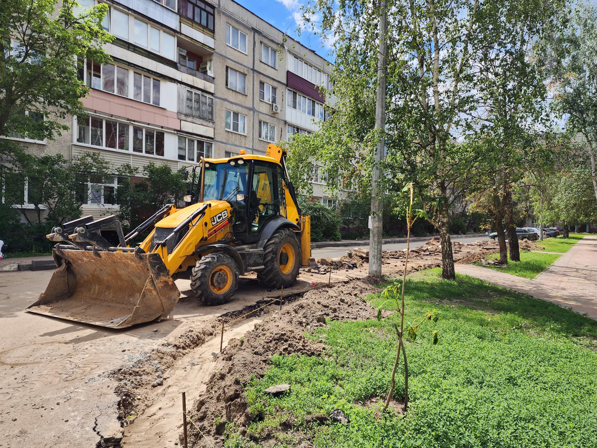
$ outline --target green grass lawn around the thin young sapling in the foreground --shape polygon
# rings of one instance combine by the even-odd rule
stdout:
[[[245,436],[229,427],[226,446],[263,446],[272,433],[277,443],[267,446],[296,446],[296,432],[318,448],[597,446],[597,323],[472,277],[439,275],[431,269],[407,280],[407,321],[434,308],[440,316],[407,343],[407,416],[376,415],[389,390],[398,316],[333,321],[310,336],[324,340],[325,357],[275,356],[264,378],[247,386],[254,419]],[[368,299],[384,303],[379,294]],[[396,378],[401,400],[402,367]],[[279,383],[290,392],[263,393]],[[348,425],[309,423],[336,408]]]

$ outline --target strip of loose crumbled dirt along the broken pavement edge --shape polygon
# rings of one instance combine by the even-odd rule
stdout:
[[[170,342],[140,355],[130,355],[127,363],[107,373],[108,378],[118,382],[115,394],[118,403],[119,420],[122,426],[131,423],[131,415],[139,415],[145,409],[148,385],[162,385],[169,378],[165,373],[174,361],[187,352],[214,337],[220,324],[215,322],[202,329],[190,329]]]

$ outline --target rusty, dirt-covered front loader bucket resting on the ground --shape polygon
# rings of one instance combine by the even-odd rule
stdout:
[[[26,311],[101,327],[167,317],[180,291],[159,254],[54,248],[48,287]]]

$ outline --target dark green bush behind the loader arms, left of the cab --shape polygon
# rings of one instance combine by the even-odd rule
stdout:
[[[128,228],[138,226],[164,205],[180,201],[189,188],[184,180],[184,168],[172,171],[166,164],[152,162],[140,171],[131,165],[122,165],[119,174],[122,178],[116,193],[120,205],[118,219]]]

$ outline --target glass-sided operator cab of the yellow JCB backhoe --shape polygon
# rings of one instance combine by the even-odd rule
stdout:
[[[205,161],[203,200],[229,202],[234,237],[253,243],[270,219],[279,216],[281,210],[283,216],[286,214],[283,180],[282,166],[275,161],[250,156]]]

